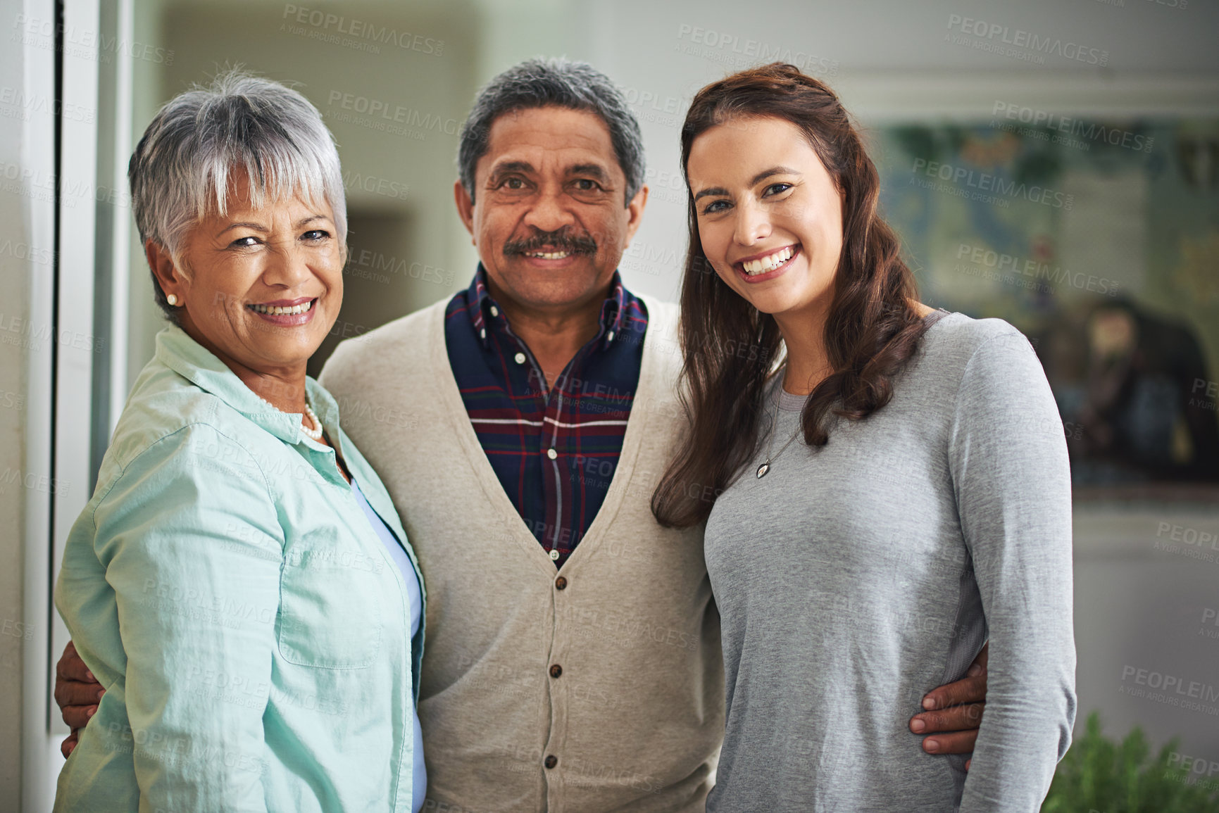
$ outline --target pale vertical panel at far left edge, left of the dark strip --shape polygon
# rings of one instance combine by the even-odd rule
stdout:
[[[54,206],[51,51],[24,22],[50,2],[0,1],[0,807],[45,803]],[[27,41],[28,39],[28,41]],[[37,809],[37,808],[35,808]]]

